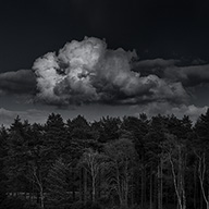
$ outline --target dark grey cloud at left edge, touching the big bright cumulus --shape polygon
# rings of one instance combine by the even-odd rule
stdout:
[[[35,90],[36,77],[30,70],[20,70],[0,74],[0,95],[32,95]]]

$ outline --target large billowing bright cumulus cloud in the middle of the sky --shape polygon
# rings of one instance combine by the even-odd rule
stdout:
[[[186,100],[187,94],[180,82],[133,71],[136,57],[135,51],[110,50],[98,38],[67,42],[58,54],[50,52],[35,61],[37,100],[56,106]],[[175,61],[163,64],[172,63]]]

